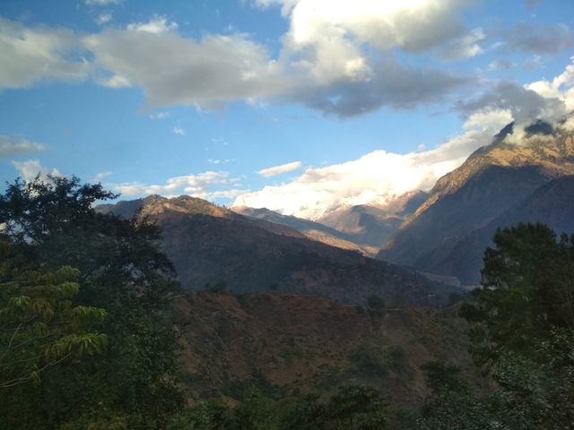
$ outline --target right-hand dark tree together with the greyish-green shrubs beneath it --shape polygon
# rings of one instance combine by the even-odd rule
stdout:
[[[423,429],[551,430],[574,423],[574,237],[541,224],[499,229],[483,285],[461,307],[490,395],[460,390],[457,371],[428,367]],[[453,379],[454,377],[454,379]],[[464,385],[463,385],[464,386]]]

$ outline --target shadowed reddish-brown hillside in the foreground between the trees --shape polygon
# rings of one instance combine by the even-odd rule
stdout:
[[[420,366],[456,362],[476,380],[457,310],[382,314],[283,293],[189,293],[174,304],[191,397],[241,397],[253,384],[275,398],[329,392],[351,380],[394,406],[428,394]]]

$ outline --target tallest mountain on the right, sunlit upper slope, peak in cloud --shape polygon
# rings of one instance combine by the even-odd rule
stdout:
[[[509,125],[490,146],[476,150],[460,168],[441,177],[378,258],[454,275],[475,285],[480,280],[483,249],[496,227],[521,220],[552,225],[552,219],[564,211],[560,196],[543,201],[536,194],[537,200],[530,201],[537,202],[536,211],[528,206],[528,212],[523,205],[553,179],[574,174],[574,142],[572,133],[544,123],[533,127],[522,142],[509,143]]]

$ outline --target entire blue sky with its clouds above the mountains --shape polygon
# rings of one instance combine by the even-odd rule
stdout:
[[[3,0],[0,181],[384,203],[570,118],[573,28],[570,0]]]

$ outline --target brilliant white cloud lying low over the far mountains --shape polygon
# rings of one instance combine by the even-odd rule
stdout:
[[[483,111],[469,117],[463,134],[437,149],[408,154],[376,150],[343,164],[308,168],[291,182],[239,195],[233,204],[317,219],[341,205],[383,203],[408,191],[429,190],[511,119],[509,112]]]

